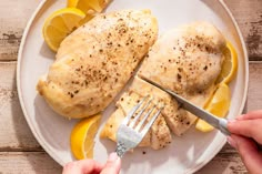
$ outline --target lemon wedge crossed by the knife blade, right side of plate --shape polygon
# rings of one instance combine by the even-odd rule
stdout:
[[[205,110],[219,117],[224,117],[230,109],[230,88],[225,83],[221,83]],[[203,120],[198,120],[195,127],[202,132],[210,132],[214,129]]]

